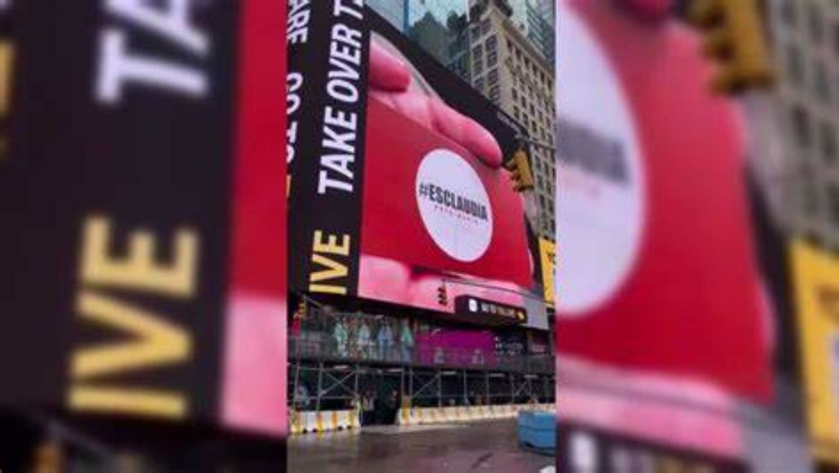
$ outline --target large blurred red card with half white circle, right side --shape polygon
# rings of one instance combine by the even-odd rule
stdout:
[[[560,356],[765,399],[739,111],[689,30],[559,4]]]

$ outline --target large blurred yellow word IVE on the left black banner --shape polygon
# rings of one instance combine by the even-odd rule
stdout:
[[[133,232],[124,259],[109,256],[110,234],[106,218],[86,219],[76,313],[84,328],[105,329],[118,337],[75,347],[70,362],[70,410],[184,418],[189,408],[185,392],[120,380],[187,363],[192,351],[190,333],[167,314],[104,290],[119,289],[132,299],[190,299],[195,294],[198,237],[189,230],[177,232],[174,262],[159,265],[154,262],[154,236],[149,232]]]

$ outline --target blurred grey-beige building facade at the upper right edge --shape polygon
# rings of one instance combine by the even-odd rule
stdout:
[[[772,0],[784,223],[839,249],[839,3]]]

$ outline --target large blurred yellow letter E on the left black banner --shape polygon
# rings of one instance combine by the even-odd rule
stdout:
[[[81,252],[84,283],[146,289],[177,297],[190,297],[195,291],[198,258],[195,232],[180,230],[175,234],[175,262],[168,266],[154,264],[154,237],[145,231],[133,232],[128,258],[110,258],[110,232],[107,218],[87,218]]]

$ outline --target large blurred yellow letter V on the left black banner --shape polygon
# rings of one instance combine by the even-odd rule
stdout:
[[[79,349],[71,362],[71,373],[76,380],[152,365],[169,365],[190,356],[190,336],[183,328],[160,319],[155,313],[90,290],[81,292],[76,310],[84,319],[120,328],[135,337]]]

